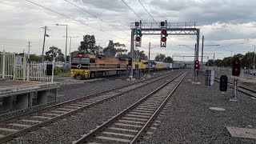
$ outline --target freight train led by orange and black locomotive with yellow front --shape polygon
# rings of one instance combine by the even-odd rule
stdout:
[[[168,70],[184,67],[183,64],[168,62],[151,62],[150,70]],[[148,62],[137,60],[133,62],[135,74],[144,73],[148,70]],[[71,77],[76,79],[98,78],[107,75],[126,74],[129,72],[128,60],[115,57],[106,57],[102,54],[78,53],[71,63]]]

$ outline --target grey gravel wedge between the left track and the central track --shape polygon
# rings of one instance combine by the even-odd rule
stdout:
[[[170,78],[174,78],[174,76],[170,76]],[[170,78],[164,78],[158,82],[143,86],[142,89],[134,90],[130,94],[103,102],[101,105],[93,106],[74,116],[54,122],[50,126],[35,130],[29,134],[24,134],[22,137],[15,138],[6,143],[71,143],[81,138],[82,134],[89,133],[96,126],[106,122],[120,111],[126,109],[126,107],[132,105],[146,94],[149,94]],[[114,83],[115,81],[111,82],[112,85]],[[102,86],[107,85],[102,84]]]

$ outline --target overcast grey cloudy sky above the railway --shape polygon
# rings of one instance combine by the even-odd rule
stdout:
[[[114,42],[126,44],[126,49],[130,50],[130,23],[140,20],[134,12],[143,21],[149,24],[150,22],[154,23],[146,10],[157,22],[165,20],[180,24],[196,22],[197,28],[201,32],[200,53],[202,35],[205,36],[205,45],[220,45],[205,47],[205,53],[210,58],[213,58],[213,54],[210,53],[214,52],[218,53],[216,58],[224,58],[238,53],[245,54],[247,51],[253,51],[253,45],[256,45],[256,2],[254,0],[140,0],[146,10],[138,0],[124,0],[134,12],[122,0],[30,1],[69,18],[26,0],[2,0],[0,2],[1,51],[20,53],[25,50],[27,52],[27,45],[30,41],[32,42],[31,53],[42,54],[44,30],[41,27],[47,26],[50,29],[47,30],[50,37],[46,38],[45,49],[49,50],[50,46],[57,46],[65,54],[66,39],[63,36],[66,35],[66,26],[56,26],[56,23],[68,25],[68,36],[78,36],[78,38],[72,38],[71,51],[78,49],[82,36],[86,34],[94,34],[97,45],[102,47],[107,46],[109,40],[114,40]],[[105,22],[72,6],[69,2],[80,6],[83,10]],[[118,30],[116,27],[122,30]],[[156,54],[166,54],[166,56],[194,54],[194,51],[186,46],[194,47],[196,36],[169,35],[167,47],[160,48],[159,36],[143,35],[142,47],[138,47],[138,50],[144,50],[148,54],[149,42],[152,46],[157,46],[151,50],[151,58],[154,58]],[[70,39],[68,39],[68,53],[69,46]],[[185,60],[190,59],[185,58]]]

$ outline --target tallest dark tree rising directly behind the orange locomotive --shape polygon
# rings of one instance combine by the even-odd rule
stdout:
[[[78,51],[83,51],[89,54],[98,54],[102,47],[95,46],[95,43],[94,35],[84,35],[83,41],[80,42],[80,46],[78,47]]]

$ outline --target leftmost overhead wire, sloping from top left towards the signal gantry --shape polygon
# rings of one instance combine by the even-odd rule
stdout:
[[[30,2],[30,3],[33,3],[33,4],[36,5],[36,6],[40,6],[40,7],[44,8],[44,9],[46,9],[46,10],[50,10],[49,8],[47,8],[47,7],[45,7],[45,6],[41,6],[41,5],[39,5],[39,4],[35,3],[35,2],[31,2],[31,1],[29,1],[29,0],[26,0],[26,1],[27,1],[27,2]],[[65,14],[58,13],[57,11],[54,11],[54,10],[50,10],[50,11],[51,11],[51,12],[54,12],[55,14],[62,15],[63,17],[70,18],[69,16],[66,16]],[[91,27],[91,28],[93,28],[93,29],[95,29],[95,30],[102,31],[102,30],[100,30],[100,29],[98,29],[98,28],[96,28],[96,27],[94,27],[94,26],[90,26],[90,25],[88,25],[88,24],[86,24],[86,23],[84,23],[84,22],[80,22],[80,21],[78,21],[78,20],[76,20],[76,19],[74,19],[74,18],[70,18],[70,19],[72,19],[72,20],[75,21],[75,22],[82,23],[83,25],[89,26],[89,27]],[[118,37],[118,36],[116,36],[116,35],[114,35],[114,34],[107,33],[106,31],[102,31],[102,32],[105,33],[105,34],[109,34],[109,35],[111,35],[111,36],[114,36],[114,37],[116,37],[116,38],[120,38],[120,37]],[[126,39],[123,39],[123,38],[120,38],[120,39],[122,39],[122,40],[124,40],[124,41],[126,41],[126,42],[130,42],[130,41],[127,41]]]

